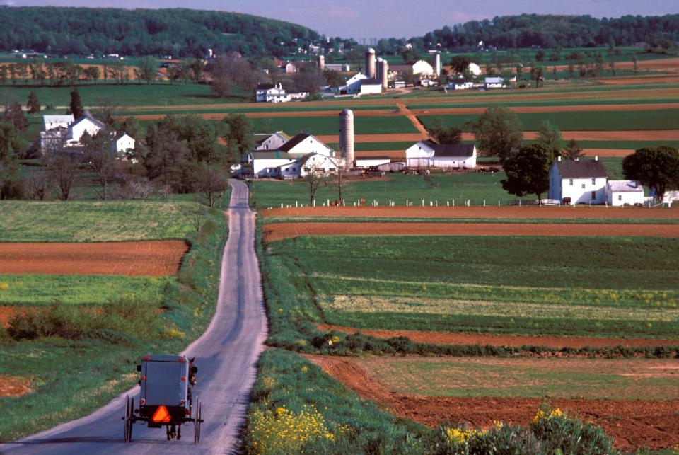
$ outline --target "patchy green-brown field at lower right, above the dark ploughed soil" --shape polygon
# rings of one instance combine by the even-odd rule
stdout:
[[[665,359],[364,358],[362,367],[395,393],[677,400]]]

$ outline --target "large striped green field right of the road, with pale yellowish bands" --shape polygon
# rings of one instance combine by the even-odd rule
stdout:
[[[314,322],[354,328],[676,338],[664,238],[298,237],[270,243]]]

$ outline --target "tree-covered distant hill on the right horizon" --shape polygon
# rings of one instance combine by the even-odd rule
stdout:
[[[419,42],[422,47],[440,43],[447,49],[472,48],[480,41],[499,48],[623,46],[636,42],[673,47],[679,40],[679,14],[610,19],[538,14],[499,16],[492,21],[446,26],[416,40],[422,40]]]

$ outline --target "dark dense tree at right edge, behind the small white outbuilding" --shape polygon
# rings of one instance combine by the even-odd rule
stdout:
[[[679,188],[679,151],[668,146],[638,149],[622,160],[622,173],[652,188],[662,200],[666,190]]]

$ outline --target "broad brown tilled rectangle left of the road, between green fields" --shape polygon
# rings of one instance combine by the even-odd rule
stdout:
[[[166,276],[178,272],[182,241],[0,243],[0,273]]]

